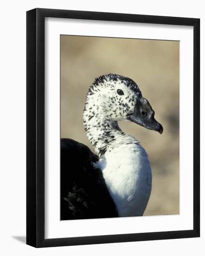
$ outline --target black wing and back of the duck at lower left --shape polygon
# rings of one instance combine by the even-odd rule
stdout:
[[[118,217],[96,161],[87,146],[61,139],[61,220]]]

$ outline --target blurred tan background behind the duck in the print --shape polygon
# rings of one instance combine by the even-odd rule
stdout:
[[[164,127],[160,135],[120,122],[146,149],[152,193],[145,216],[179,214],[179,41],[61,35],[61,138],[94,151],[83,128],[87,90],[102,74],[133,79]]]

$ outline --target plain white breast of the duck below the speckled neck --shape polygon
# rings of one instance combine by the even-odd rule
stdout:
[[[98,162],[119,216],[142,216],[152,187],[148,156],[140,143],[122,144]]]

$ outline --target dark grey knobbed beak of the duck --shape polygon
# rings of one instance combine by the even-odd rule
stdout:
[[[128,115],[128,120],[135,122],[149,130],[154,130],[163,133],[162,125],[154,119],[154,110],[152,109],[149,101],[141,98],[137,101],[134,113]]]

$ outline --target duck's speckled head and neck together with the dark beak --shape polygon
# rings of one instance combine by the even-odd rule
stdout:
[[[98,155],[130,139],[119,128],[120,120],[163,131],[135,81],[118,74],[102,75],[90,86],[83,112],[85,131]]]

